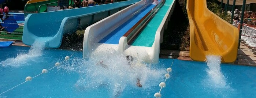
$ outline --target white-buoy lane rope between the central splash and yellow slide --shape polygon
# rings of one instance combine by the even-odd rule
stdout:
[[[171,63],[171,67],[172,67],[172,64],[173,64],[174,60],[175,60],[175,59],[173,59],[173,61],[172,61],[172,63]],[[159,84],[160,90],[159,90],[159,92],[157,92],[157,93],[154,94],[154,97],[156,97],[156,98],[161,98],[161,97],[162,97],[161,90],[162,90],[164,87],[166,87],[166,83],[165,83],[165,82],[166,82],[166,80],[167,80],[168,78],[171,77],[171,75],[169,74],[169,73],[172,71],[171,67],[169,67],[169,68],[166,69],[167,73],[164,75],[166,78],[165,78],[164,82],[161,82],[161,83]]]

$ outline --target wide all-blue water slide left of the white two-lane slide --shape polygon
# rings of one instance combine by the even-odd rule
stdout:
[[[38,38],[47,38],[45,47],[59,48],[63,34],[75,33],[78,28],[85,28],[138,1],[29,14],[25,19],[22,41],[32,45]]]

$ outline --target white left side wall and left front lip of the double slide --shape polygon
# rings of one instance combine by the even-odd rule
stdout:
[[[83,57],[88,58],[92,51],[97,51],[99,49],[117,49],[118,44],[101,44],[99,41],[109,35],[112,31],[116,30],[127,20],[138,14],[138,12],[147,5],[149,5],[149,0],[146,0],[146,2],[140,0],[122,11],[116,12],[115,14],[87,27],[84,34]]]

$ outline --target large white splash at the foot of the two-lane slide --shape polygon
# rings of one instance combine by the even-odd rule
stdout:
[[[106,65],[105,68],[100,65],[100,61]],[[109,91],[111,98],[121,96],[127,87],[146,90],[159,85],[159,81],[163,80],[165,69],[154,69],[152,65],[144,64],[136,58],[133,63],[135,65],[129,65],[125,55],[110,49],[101,54],[92,53],[89,60],[73,59],[70,63],[65,63],[68,65],[60,65],[58,69],[79,73],[80,78],[75,84],[78,90],[103,88]],[[137,79],[140,79],[142,88],[136,86]]]

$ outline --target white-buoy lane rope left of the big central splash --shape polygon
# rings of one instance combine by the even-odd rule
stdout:
[[[73,54],[72,54],[72,55],[73,55]],[[72,55],[71,55],[71,56],[72,56]],[[69,60],[69,59],[70,59],[70,56],[66,56],[64,61],[67,61],[67,60]],[[63,63],[64,61],[62,61],[61,63]],[[43,73],[47,73],[47,72],[50,71],[51,69],[53,69],[53,68],[59,66],[61,63],[59,63],[59,62],[55,63],[55,66],[52,67],[52,68],[50,68],[50,69],[42,69],[42,72],[41,72],[40,74],[34,76],[34,77],[27,76],[24,82],[22,82],[22,83],[20,83],[20,84],[18,84],[18,85],[16,85],[16,86],[10,88],[10,89],[7,90],[7,91],[10,91],[10,90],[12,90],[12,89],[18,87],[19,85],[24,84],[24,83],[26,83],[26,82],[28,82],[28,81],[31,81],[33,78],[36,78],[37,76],[40,76],[40,75],[42,75]],[[1,93],[0,95],[6,93],[7,91],[4,91],[4,92]],[[0,96],[0,97],[1,97],[1,96]]]

